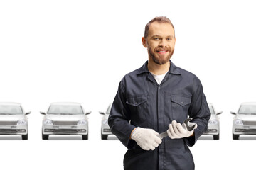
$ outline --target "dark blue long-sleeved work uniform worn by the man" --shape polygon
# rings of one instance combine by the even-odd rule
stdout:
[[[119,84],[109,125],[113,134],[128,148],[124,169],[194,169],[188,146],[193,146],[207,129],[210,111],[201,81],[191,72],[170,63],[169,72],[160,85],[150,74],[148,62],[125,75]],[[188,116],[198,125],[193,137],[174,140],[165,137],[154,151],[145,151],[129,139],[132,130],[138,126],[161,133],[168,129],[172,120],[183,123]]]

